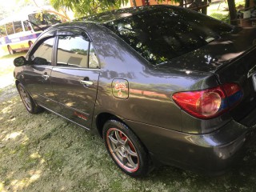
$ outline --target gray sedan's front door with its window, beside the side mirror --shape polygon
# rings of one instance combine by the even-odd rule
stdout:
[[[25,66],[24,85],[39,105],[58,112],[60,107],[50,85],[50,74],[53,68],[54,35],[44,36],[35,44],[28,55],[30,65]]]

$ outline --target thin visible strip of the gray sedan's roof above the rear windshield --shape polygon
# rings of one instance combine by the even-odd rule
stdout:
[[[142,12],[147,12],[150,10],[158,10],[163,7],[172,7],[175,6],[165,6],[165,5],[157,5],[157,6],[136,6],[119,10],[110,10],[103,12],[101,14],[93,14],[86,17],[75,19],[74,22],[96,22],[99,24],[104,24],[107,22],[111,22],[114,20],[118,20],[120,18],[127,18],[135,14],[140,14]]]

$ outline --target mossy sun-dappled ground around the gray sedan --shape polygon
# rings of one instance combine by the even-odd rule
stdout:
[[[50,112],[26,111],[13,86],[12,59],[0,60],[1,81],[11,79],[0,87],[0,191],[256,191],[256,146],[219,177],[161,166],[130,178],[101,138]]]

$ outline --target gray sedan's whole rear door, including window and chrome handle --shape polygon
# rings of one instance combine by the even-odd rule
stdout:
[[[83,30],[58,30],[51,84],[60,114],[90,129],[99,77],[93,43]]]

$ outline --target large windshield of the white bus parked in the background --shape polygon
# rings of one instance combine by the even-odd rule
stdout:
[[[62,22],[61,18],[59,18],[58,15],[42,12],[36,14],[29,14],[29,21],[34,28],[34,31],[42,30],[47,26],[52,26],[56,23]]]

